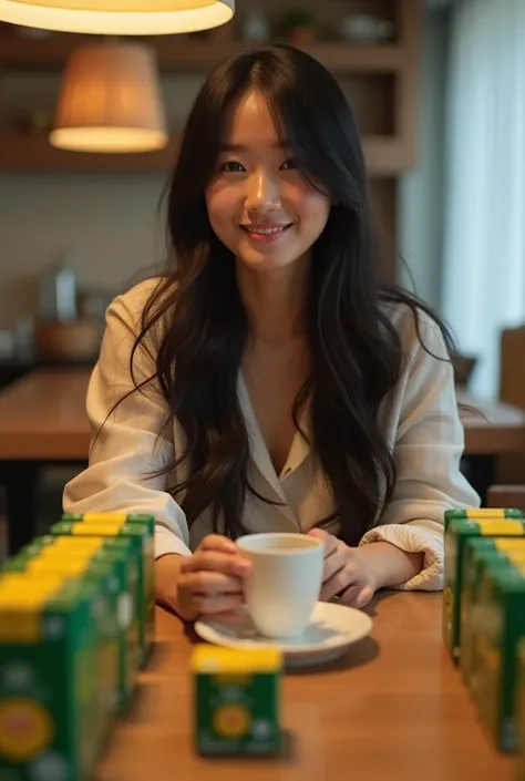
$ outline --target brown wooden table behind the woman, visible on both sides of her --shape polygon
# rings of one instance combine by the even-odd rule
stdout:
[[[89,376],[86,369],[35,370],[0,391],[0,460],[85,460]],[[478,410],[462,413],[465,454],[525,451],[525,411],[463,390],[457,397]]]

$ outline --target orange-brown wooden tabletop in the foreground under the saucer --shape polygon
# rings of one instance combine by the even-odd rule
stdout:
[[[515,781],[478,722],[440,636],[441,596],[384,593],[371,637],[326,668],[282,680],[277,760],[202,759],[193,749],[192,638],[158,608],[158,645],[95,781]]]

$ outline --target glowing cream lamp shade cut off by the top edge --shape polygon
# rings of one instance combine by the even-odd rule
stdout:
[[[0,0],[0,21],[109,35],[167,35],[229,22],[235,0]]]

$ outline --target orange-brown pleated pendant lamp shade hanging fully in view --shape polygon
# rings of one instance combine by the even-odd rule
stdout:
[[[150,152],[165,146],[152,50],[121,42],[76,49],[65,68],[50,142],[78,152]]]

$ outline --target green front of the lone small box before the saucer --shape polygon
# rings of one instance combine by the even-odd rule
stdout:
[[[195,740],[203,756],[275,756],[280,749],[278,672],[195,676]],[[240,707],[248,729],[228,736],[218,731],[222,708]]]

